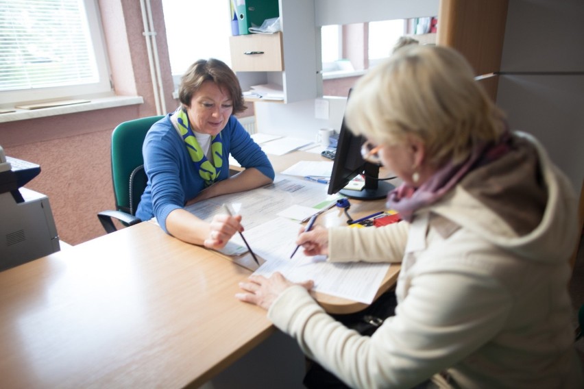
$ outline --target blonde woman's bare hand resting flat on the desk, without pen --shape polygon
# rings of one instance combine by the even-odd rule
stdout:
[[[235,297],[241,301],[245,301],[245,303],[255,304],[265,310],[269,310],[272,303],[287,288],[300,285],[306,288],[306,290],[311,290],[314,284],[314,281],[304,281],[294,284],[278,272],[273,273],[269,278],[263,275],[251,275],[247,282],[239,283],[239,287],[245,290],[245,293],[237,293]]]

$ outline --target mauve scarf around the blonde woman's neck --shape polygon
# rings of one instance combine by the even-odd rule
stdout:
[[[418,188],[406,183],[387,194],[387,208],[400,213],[402,220],[411,222],[419,208],[435,203],[470,171],[492,162],[511,150],[511,134],[505,131],[499,142],[475,147],[461,164],[446,164]]]

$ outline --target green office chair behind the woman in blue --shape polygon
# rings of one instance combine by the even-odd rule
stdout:
[[[117,230],[114,219],[125,226],[141,222],[134,215],[147,183],[142,144],[151,125],[163,117],[149,116],[123,122],[112,132],[112,181],[116,210],[97,214],[108,234]]]

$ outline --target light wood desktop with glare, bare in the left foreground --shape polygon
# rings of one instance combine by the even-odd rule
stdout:
[[[358,214],[374,208],[361,205]],[[330,210],[319,221],[345,219]],[[0,272],[1,386],[201,386],[274,331],[264,310],[234,297],[250,274],[149,222]],[[331,312],[363,308],[316,297]]]

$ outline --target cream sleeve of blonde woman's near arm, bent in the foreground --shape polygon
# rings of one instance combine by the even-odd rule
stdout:
[[[268,318],[352,388],[411,388],[482,347],[511,308],[498,284],[453,272],[416,279],[371,338],[335,321],[302,286],[282,292]]]

